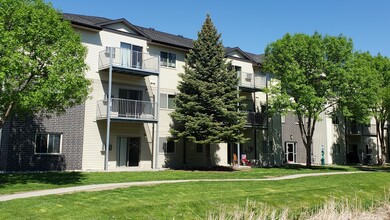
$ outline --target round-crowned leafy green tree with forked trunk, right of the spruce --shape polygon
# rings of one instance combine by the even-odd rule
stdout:
[[[277,79],[269,89],[271,110],[298,116],[308,166],[315,124],[343,97],[352,51],[351,39],[317,32],[286,34],[265,50],[264,71]]]

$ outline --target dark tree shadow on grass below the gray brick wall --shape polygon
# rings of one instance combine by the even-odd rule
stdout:
[[[80,172],[4,173],[0,174],[0,188],[29,183],[72,185],[80,183],[84,178],[85,175]]]

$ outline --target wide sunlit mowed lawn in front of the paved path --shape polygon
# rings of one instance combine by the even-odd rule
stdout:
[[[247,200],[298,216],[331,198],[365,206],[390,189],[389,172],[280,181],[198,182],[44,196],[0,203],[0,219],[206,219]]]

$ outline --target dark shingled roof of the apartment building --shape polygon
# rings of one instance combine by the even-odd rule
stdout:
[[[90,28],[95,28],[98,30],[103,29],[104,25],[112,21],[116,21],[109,18],[97,17],[97,16],[88,16],[88,15],[78,15],[78,14],[63,14],[64,19],[69,20],[73,24],[84,25]],[[126,19],[118,19],[118,21],[126,21]],[[126,21],[128,24],[132,25],[130,22]],[[193,39],[183,37],[181,35],[169,34],[162,31],[157,31],[154,28],[145,28],[137,25],[132,25],[136,28],[142,35],[147,37],[152,42],[167,44],[171,46],[176,46],[184,49],[191,49],[193,44]],[[264,60],[264,55],[253,54],[249,52],[242,51],[238,47],[230,48],[227,47],[226,52],[231,51],[232,49],[237,49],[246,55],[252,62],[262,63]]]

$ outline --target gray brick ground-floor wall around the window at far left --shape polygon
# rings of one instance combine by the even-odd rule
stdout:
[[[15,116],[9,121],[9,127],[3,129],[0,157],[6,159],[0,168],[6,171],[80,170],[83,129],[84,105],[51,117]],[[37,132],[62,133],[61,154],[34,154]]]

